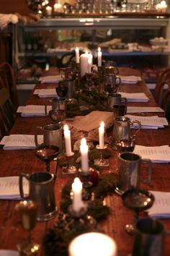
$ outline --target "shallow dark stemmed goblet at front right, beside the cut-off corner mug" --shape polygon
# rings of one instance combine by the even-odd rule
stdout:
[[[129,189],[122,194],[123,205],[135,212],[135,223],[138,221],[140,211],[151,208],[153,202],[154,197],[151,192],[144,189]],[[134,234],[134,224],[127,224],[125,230],[128,234]]]

